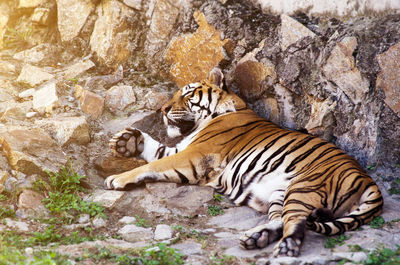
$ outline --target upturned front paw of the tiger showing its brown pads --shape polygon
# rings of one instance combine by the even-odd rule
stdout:
[[[115,156],[134,157],[143,152],[144,138],[139,130],[126,128],[116,133],[109,145]]]

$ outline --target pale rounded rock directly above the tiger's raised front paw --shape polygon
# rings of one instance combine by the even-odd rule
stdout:
[[[132,86],[113,86],[106,92],[105,105],[112,111],[124,110],[136,101]]]

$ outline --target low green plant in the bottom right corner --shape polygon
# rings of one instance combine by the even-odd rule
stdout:
[[[379,248],[371,251],[364,265],[395,265],[400,264],[400,245],[396,249]]]

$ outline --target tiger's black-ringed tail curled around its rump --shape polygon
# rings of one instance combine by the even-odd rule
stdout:
[[[370,183],[361,195],[357,209],[338,218],[334,218],[329,209],[314,209],[307,218],[307,228],[328,236],[341,234],[370,222],[375,216],[381,214],[382,206],[383,198],[378,186]]]

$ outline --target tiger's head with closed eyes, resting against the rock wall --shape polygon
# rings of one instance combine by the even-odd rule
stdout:
[[[222,71],[214,68],[205,80],[179,89],[161,111],[168,136],[178,137],[219,115],[244,108],[246,103],[226,88]]]

